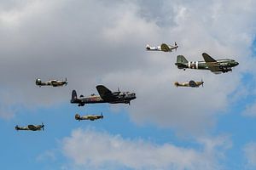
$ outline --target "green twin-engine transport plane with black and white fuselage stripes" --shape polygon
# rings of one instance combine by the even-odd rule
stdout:
[[[232,71],[232,67],[239,65],[234,59],[212,59],[212,57],[206,53],[202,54],[205,61],[188,61],[183,55],[177,55],[178,69],[199,69],[199,70],[210,70],[214,74],[225,73]]]

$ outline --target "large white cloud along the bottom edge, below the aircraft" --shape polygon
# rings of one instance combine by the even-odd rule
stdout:
[[[229,141],[229,142],[227,142]],[[76,129],[62,140],[63,153],[71,166],[81,169],[221,169],[218,159],[230,149],[228,137],[199,139],[202,149],[153,144],[143,139],[124,139],[120,135]]]

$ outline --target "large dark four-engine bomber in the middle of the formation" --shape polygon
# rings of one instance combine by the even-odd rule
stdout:
[[[111,92],[108,88],[103,85],[96,86],[96,89],[100,95],[91,94],[89,97],[84,97],[80,95],[78,98],[77,92],[73,90],[72,98],[70,103],[79,104],[79,106],[84,106],[85,104],[96,104],[96,103],[110,103],[110,104],[129,104],[132,99],[136,99],[135,93],[130,92]]]

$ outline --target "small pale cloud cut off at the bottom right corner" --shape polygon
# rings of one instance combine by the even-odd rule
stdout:
[[[256,167],[256,143],[246,144],[243,151],[247,158],[247,167],[254,169]]]

